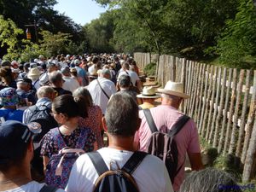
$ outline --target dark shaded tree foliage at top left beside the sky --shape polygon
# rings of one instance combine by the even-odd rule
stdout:
[[[70,40],[78,49],[73,49],[73,53],[84,52],[87,47],[80,47],[81,42],[88,42],[82,31],[82,26],[76,24],[72,19],[64,14],[59,13],[54,9],[56,0],[0,0],[0,13],[3,15],[4,20],[8,18],[15,22],[15,25],[22,29],[23,37],[19,36],[21,41],[25,38],[26,28],[29,28],[32,33],[32,42],[36,43],[38,39],[43,36],[39,34],[42,31],[49,31],[54,34],[58,32],[68,33],[72,37]],[[30,25],[30,26],[27,26]],[[10,33],[11,34],[11,33]],[[38,36],[38,39],[36,38]],[[21,43],[20,43],[21,45]],[[88,45],[87,43],[83,45]],[[70,49],[71,49],[70,48]],[[68,48],[69,49],[69,48]],[[16,50],[20,52],[20,50]],[[7,46],[1,48],[0,57],[7,52]],[[14,51],[8,51],[12,55]],[[8,56],[9,56],[8,55]],[[10,56],[14,57],[14,56]]]

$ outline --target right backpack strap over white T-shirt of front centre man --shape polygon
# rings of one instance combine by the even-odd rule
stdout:
[[[137,166],[141,164],[147,153],[142,151],[135,151],[129,160],[122,167],[122,170],[129,173],[130,175],[137,169]]]

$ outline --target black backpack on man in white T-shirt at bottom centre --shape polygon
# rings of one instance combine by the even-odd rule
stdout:
[[[94,184],[93,192],[139,192],[137,183],[132,173],[147,155],[144,152],[136,151],[127,160],[125,166],[117,170],[108,170],[101,154],[98,152],[88,153],[99,177]],[[111,166],[110,166],[111,169]]]

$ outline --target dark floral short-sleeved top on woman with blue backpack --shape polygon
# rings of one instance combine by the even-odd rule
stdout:
[[[87,134],[84,137],[86,140],[86,143],[84,144],[84,152],[90,152],[94,149],[94,143],[96,142],[96,137],[93,134],[92,131],[90,131],[90,128],[81,128],[74,130],[71,135],[64,136],[61,134],[64,142],[66,143],[67,147],[69,148],[76,148],[76,143],[79,140],[79,136],[81,133],[81,129],[86,129]],[[59,130],[60,131],[60,130]],[[43,156],[51,157],[53,154],[58,154],[61,148],[57,145],[56,141],[54,141],[54,137],[52,133],[49,131],[46,133],[46,135],[43,137],[41,141],[41,154]]]

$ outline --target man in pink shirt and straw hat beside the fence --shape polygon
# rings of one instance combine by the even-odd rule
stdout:
[[[167,132],[172,129],[172,125],[177,122],[183,113],[177,109],[184,99],[188,99],[189,96],[183,93],[183,84],[168,81],[164,89],[158,89],[161,93],[162,102],[160,106],[150,108],[150,113],[154,119],[154,123],[158,131]],[[141,126],[137,131],[135,137],[135,145],[142,151],[146,151],[148,138],[151,137],[146,117],[143,111],[140,112],[140,118],[142,119]],[[177,143],[177,172],[173,189],[177,191],[183,183],[184,179],[184,162],[186,159],[186,153],[189,155],[189,161],[192,170],[200,170],[203,168],[201,163],[201,149],[199,144],[198,132],[193,119],[189,119],[188,122],[183,125],[183,128],[175,136]]]

